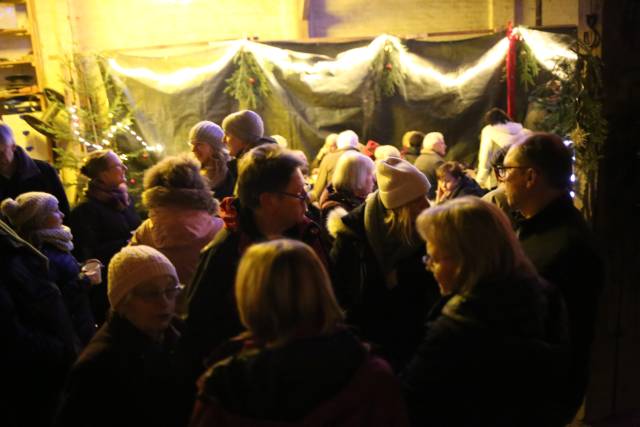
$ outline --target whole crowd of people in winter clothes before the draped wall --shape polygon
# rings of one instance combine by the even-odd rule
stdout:
[[[0,424],[571,422],[603,267],[561,138],[493,109],[474,169],[437,130],[309,164],[243,110],[188,144],[142,221],[116,153],[69,209],[0,124]]]

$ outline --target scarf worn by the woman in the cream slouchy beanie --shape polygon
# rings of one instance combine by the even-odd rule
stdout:
[[[420,240],[413,238],[407,243],[401,236],[393,234],[390,224],[385,222],[387,209],[376,191],[367,198],[364,207],[364,228],[367,241],[376,256],[378,265],[389,289],[398,285],[398,261],[410,256],[420,247]]]

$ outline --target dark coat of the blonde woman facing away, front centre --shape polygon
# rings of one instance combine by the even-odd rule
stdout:
[[[199,383],[192,427],[408,425],[391,369],[347,331],[245,349]]]

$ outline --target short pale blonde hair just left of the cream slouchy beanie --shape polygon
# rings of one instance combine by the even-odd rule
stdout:
[[[367,177],[373,175],[373,160],[357,151],[347,151],[340,156],[336,169],[331,176],[333,188],[338,191],[350,191],[364,197]]]

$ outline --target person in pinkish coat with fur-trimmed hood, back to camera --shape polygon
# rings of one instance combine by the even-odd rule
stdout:
[[[186,155],[166,157],[147,169],[144,188],[142,204],[149,218],[136,229],[131,244],[158,249],[189,286],[200,251],[222,229],[222,219],[215,216],[219,203],[197,162]],[[186,313],[183,295],[176,309],[180,316]]]

